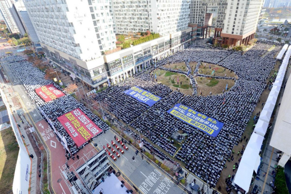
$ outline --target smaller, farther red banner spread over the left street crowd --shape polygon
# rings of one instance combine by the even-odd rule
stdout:
[[[35,92],[39,97],[43,98],[45,102],[49,102],[51,100],[65,96],[65,94],[61,90],[58,90],[55,86],[53,86],[53,84],[37,88],[35,89]]]

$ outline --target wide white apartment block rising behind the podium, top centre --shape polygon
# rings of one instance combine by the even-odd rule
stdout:
[[[112,0],[115,32],[160,33],[188,28],[190,0]]]

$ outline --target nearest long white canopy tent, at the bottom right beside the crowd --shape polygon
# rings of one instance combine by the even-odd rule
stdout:
[[[249,190],[253,172],[257,172],[259,167],[258,160],[260,161],[260,158],[258,159],[258,157],[263,140],[263,136],[257,133],[252,133],[251,138],[242,155],[242,160],[240,162],[236,176],[233,180],[235,184],[237,184],[246,192]]]

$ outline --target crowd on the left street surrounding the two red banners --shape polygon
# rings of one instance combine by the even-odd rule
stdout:
[[[19,77],[19,80],[22,82],[27,95],[37,105],[37,107],[42,110],[41,113],[43,114],[44,119],[47,122],[49,119],[51,122],[49,121],[48,123],[51,125],[51,127],[59,132],[61,136],[65,137],[66,143],[72,155],[76,154],[87,143],[77,147],[67,131],[63,128],[62,124],[57,120],[59,116],[74,109],[80,108],[81,111],[85,113],[100,129],[103,131],[109,129],[105,122],[103,122],[99,117],[96,116],[96,114],[92,113],[82,103],[78,102],[72,96],[60,97],[50,102],[45,102],[41,97],[39,97],[35,93],[35,89],[44,85],[53,84],[59,90],[62,90],[62,88],[51,80],[45,80],[45,73],[32,66],[31,63],[23,61],[14,63],[11,67]],[[62,137],[57,135],[57,138],[61,141]]]

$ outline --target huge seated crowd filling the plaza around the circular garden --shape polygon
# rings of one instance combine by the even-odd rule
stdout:
[[[214,187],[226,164],[226,157],[233,146],[240,142],[259,97],[266,88],[266,79],[276,64],[274,55],[280,47],[275,47],[272,51],[267,52],[269,48],[271,45],[263,47],[262,44],[258,44],[246,52],[250,52],[250,54],[242,54],[240,51],[192,46],[159,61],[146,72],[139,72],[134,78],[97,94],[95,99],[105,101],[109,106],[109,111],[114,113],[117,118],[138,129],[170,155],[177,152],[171,139],[172,134],[177,131],[187,133],[188,138],[183,142],[175,157],[185,162],[186,168],[197,177],[204,181],[208,178],[210,186]],[[154,75],[151,75],[150,72],[162,65],[180,62],[197,62],[199,64],[206,62],[221,65],[234,71],[239,78],[235,81],[234,86],[224,94],[207,97],[184,96],[177,91],[171,91],[164,85],[157,88],[159,83],[155,82]],[[195,70],[195,72],[197,71]],[[123,94],[123,91],[132,85],[137,85],[163,98],[149,108]],[[224,127],[217,137],[211,137],[166,113],[176,103],[184,104],[215,118],[224,123]],[[148,143],[144,144],[146,147],[149,146]]]

